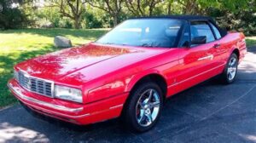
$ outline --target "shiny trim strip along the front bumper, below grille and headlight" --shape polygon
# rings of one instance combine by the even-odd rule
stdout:
[[[9,89],[12,89],[15,92],[15,94],[18,95],[21,99],[32,101],[34,103],[37,103],[38,105],[47,106],[49,108],[53,108],[55,110],[60,110],[60,111],[63,111],[63,112],[80,112],[80,111],[83,110],[83,107],[68,108],[66,106],[58,106],[58,105],[54,105],[54,104],[51,104],[51,103],[44,102],[42,100],[36,100],[32,97],[28,97],[28,96],[22,94],[20,91],[16,90],[11,83],[8,83],[8,87],[9,87]]]

